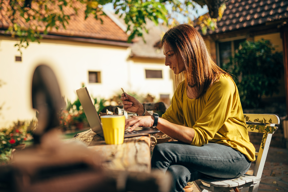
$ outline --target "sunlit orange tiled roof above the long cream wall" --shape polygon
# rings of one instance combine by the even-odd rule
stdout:
[[[48,34],[127,42],[128,35],[126,32],[124,32],[108,16],[98,16],[98,20],[96,20],[93,15],[90,14],[90,16],[85,20],[84,11],[86,6],[83,4],[80,6],[82,7],[78,10],[78,15],[71,16],[69,24],[66,24],[66,29],[63,27],[58,30],[52,28],[52,30],[48,31]],[[73,9],[66,9],[65,11],[67,11],[65,12],[66,14],[73,14]],[[1,15],[3,15],[3,19],[1,18]],[[103,20],[103,24],[101,24],[100,18]],[[3,21],[3,24],[1,21]],[[9,19],[5,14],[0,14],[0,28],[7,28],[9,25],[8,21]],[[26,25],[25,20],[21,20],[19,24],[21,26]]]

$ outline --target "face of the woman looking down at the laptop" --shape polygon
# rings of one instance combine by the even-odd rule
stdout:
[[[165,65],[169,66],[175,75],[186,70],[182,57],[179,57],[178,63],[176,53],[174,53],[172,47],[166,42],[163,43],[163,53],[165,55]]]

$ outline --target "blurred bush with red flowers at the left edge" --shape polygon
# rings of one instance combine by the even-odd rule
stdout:
[[[13,147],[24,141],[33,139],[32,135],[37,127],[37,121],[32,120],[14,122],[9,128],[2,128],[0,132],[0,154],[9,152]]]

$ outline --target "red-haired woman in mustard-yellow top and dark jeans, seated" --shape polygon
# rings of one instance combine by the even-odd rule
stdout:
[[[165,65],[185,77],[168,110],[158,119],[134,97],[121,97],[124,109],[139,115],[126,120],[126,128],[156,126],[177,140],[155,146],[151,167],[172,173],[172,191],[183,191],[187,182],[205,175],[245,174],[255,160],[255,148],[231,76],[213,62],[203,38],[190,25],[169,29],[161,43]]]

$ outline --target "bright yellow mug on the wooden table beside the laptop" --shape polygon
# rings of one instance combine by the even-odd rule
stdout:
[[[124,141],[125,116],[105,115],[100,116],[106,144],[122,144]]]

